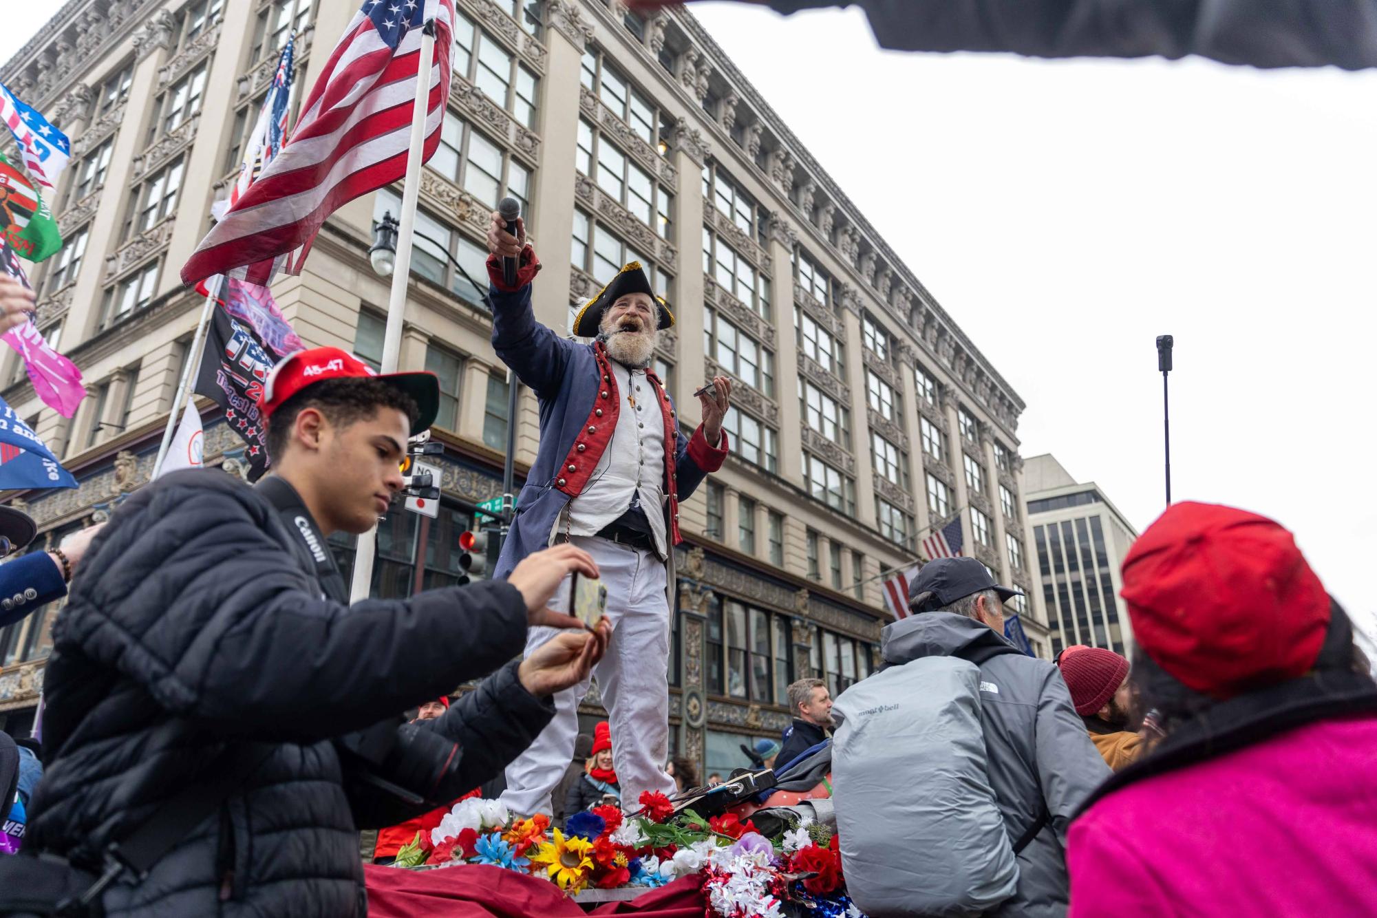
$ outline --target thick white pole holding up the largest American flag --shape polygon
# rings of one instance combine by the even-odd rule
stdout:
[[[424,66],[421,66],[424,62]],[[387,330],[383,334],[383,373],[395,373],[402,351],[402,317],[406,311],[406,282],[412,274],[412,241],[416,228],[416,201],[420,197],[421,157],[425,146],[425,111],[430,102],[431,70],[435,67],[435,21],[421,26],[420,62],[416,66],[416,102],[412,105],[412,146],[406,153],[406,179],[398,223],[397,261],[392,266],[392,293],[387,301]],[[377,526],[358,537],[350,601],[368,599],[377,555]]]

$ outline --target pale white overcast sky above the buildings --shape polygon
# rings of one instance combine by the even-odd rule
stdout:
[[[1276,517],[1377,610],[1377,73],[895,54],[856,11],[693,8],[1027,402],[1023,456],[1146,527],[1170,333],[1173,497]]]

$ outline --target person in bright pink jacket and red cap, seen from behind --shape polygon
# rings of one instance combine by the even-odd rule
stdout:
[[[1377,684],[1292,534],[1176,504],[1124,560],[1166,736],[1071,823],[1071,918],[1377,914]]]

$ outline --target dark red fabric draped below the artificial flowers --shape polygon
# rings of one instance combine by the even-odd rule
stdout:
[[[443,870],[364,866],[370,918],[584,918],[559,886],[536,877],[465,864]],[[647,889],[631,901],[599,906],[595,915],[702,918],[706,911],[697,877]]]

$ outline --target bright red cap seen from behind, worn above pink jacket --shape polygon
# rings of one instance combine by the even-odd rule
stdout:
[[[1173,504],[1129,549],[1133,634],[1187,688],[1230,698],[1304,676],[1329,628],[1329,596],[1275,520]]]

